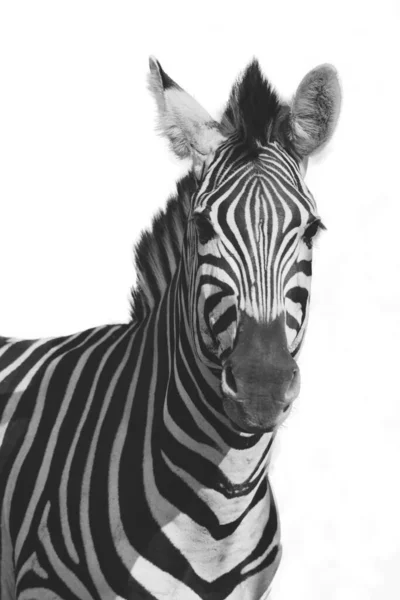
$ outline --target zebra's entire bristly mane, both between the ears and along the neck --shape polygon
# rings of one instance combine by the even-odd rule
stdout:
[[[279,138],[285,110],[258,61],[253,60],[232,88],[220,127],[227,137],[234,136],[244,144],[255,158],[261,146]],[[156,215],[151,229],[142,234],[135,247],[137,285],[131,297],[134,320],[143,319],[158,304],[172,280],[181,255],[191,196],[197,185],[193,172],[184,177],[177,184],[177,194]]]

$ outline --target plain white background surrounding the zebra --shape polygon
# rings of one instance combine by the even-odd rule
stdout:
[[[147,60],[218,116],[252,56],[284,97],[331,62],[337,134],[307,183],[303,388],[272,471],[273,600],[400,598],[398,2],[0,4],[0,331],[126,321],[132,247],[186,166],[154,133]]]

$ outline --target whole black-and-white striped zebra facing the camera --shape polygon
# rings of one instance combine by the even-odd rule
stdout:
[[[336,70],[280,99],[253,59],[219,120],[153,57],[190,169],[135,249],[128,323],[0,338],[1,600],[258,600],[282,547],[268,479],[324,229],[304,183]]]

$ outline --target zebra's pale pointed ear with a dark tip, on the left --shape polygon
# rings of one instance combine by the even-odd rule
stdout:
[[[225,137],[219,124],[150,57],[149,88],[158,108],[158,129],[179,158],[192,158],[196,174]]]

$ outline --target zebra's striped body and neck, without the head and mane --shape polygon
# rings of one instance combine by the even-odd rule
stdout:
[[[9,373],[2,398],[10,394],[2,415],[8,421],[2,432],[3,586],[13,582],[16,568],[15,584],[29,589],[29,598],[50,598],[54,590],[61,598],[244,598],[236,585],[255,569],[257,582],[248,584],[259,587],[260,562],[266,563],[261,591],[268,586],[277,567],[272,561],[271,569],[270,554],[280,553],[263,476],[273,434],[255,447],[228,449],[211,427],[218,414],[206,412],[191,380],[189,356],[169,346],[165,315],[162,302],[146,324],[1,348]],[[169,380],[171,364],[177,375]],[[193,403],[190,413],[181,412],[196,424],[180,424],[175,414],[174,423],[163,422],[164,411],[169,405],[176,411],[178,401]],[[183,437],[184,455],[174,448],[174,435]],[[198,464],[200,481],[186,472],[191,455],[210,462],[208,474]],[[122,469],[129,479],[121,478]],[[257,493],[262,501],[232,528]],[[3,588],[1,597],[15,596]]]

